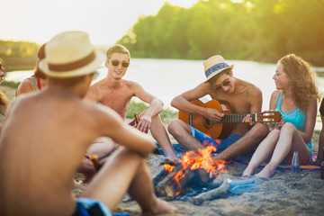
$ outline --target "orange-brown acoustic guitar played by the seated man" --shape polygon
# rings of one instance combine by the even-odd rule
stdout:
[[[280,121],[281,119],[281,113],[278,111],[266,111],[259,113],[232,113],[227,101],[211,100],[207,103],[202,103],[201,100],[196,99],[190,101],[190,103],[205,108],[216,109],[219,112],[224,113],[224,117],[220,122],[211,122],[209,119],[206,119],[202,115],[179,111],[180,120],[193,126],[193,128],[206,133],[212,139],[227,138],[232,129],[232,123],[242,122],[247,114],[251,115],[252,121],[262,123],[275,123]]]

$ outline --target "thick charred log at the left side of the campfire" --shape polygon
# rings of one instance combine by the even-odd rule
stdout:
[[[190,168],[183,169],[181,164],[177,164],[175,168],[166,175],[156,186],[156,193],[158,196],[171,197],[178,193],[185,187],[188,182],[193,179],[194,172]],[[176,179],[178,181],[176,181]]]

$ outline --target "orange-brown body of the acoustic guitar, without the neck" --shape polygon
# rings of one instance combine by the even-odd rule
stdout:
[[[207,103],[202,103],[199,99],[190,101],[198,106],[205,108],[216,109],[224,114],[230,114],[231,109],[229,103],[226,101],[211,100]],[[225,139],[229,137],[232,129],[232,123],[211,123],[202,115],[193,114],[189,112],[179,111],[179,119],[185,123],[193,126],[193,128],[202,131],[203,133],[210,136],[212,139]]]

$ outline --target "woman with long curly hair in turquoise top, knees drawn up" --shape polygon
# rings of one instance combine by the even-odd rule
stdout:
[[[282,119],[257,147],[243,176],[268,162],[257,176],[269,179],[280,163],[292,162],[294,151],[298,151],[301,165],[311,162],[320,94],[310,65],[294,54],[287,55],[278,61],[273,79],[277,90],[271,95],[270,109],[281,112]]]

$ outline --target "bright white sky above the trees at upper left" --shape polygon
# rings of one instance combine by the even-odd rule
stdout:
[[[86,31],[95,45],[121,39],[140,15],[155,15],[165,2],[196,0],[0,0],[0,40],[42,44],[61,31]]]

